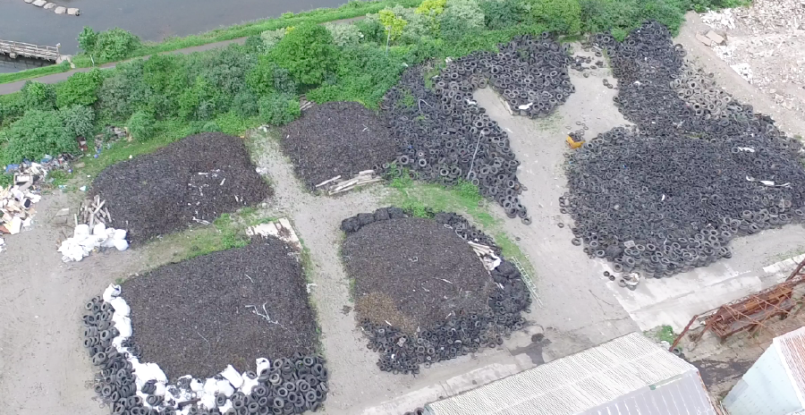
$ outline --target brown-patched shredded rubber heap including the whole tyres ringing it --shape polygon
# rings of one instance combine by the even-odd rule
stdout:
[[[416,374],[420,364],[496,347],[523,325],[530,294],[520,272],[503,261],[490,275],[467,240],[500,250],[462,216],[387,207],[342,229],[355,311],[381,370]]]

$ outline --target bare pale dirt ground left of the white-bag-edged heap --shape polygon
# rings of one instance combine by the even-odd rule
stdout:
[[[46,195],[33,229],[7,238],[0,254],[0,413],[109,413],[94,401],[94,368],[80,342],[82,302],[143,267],[144,255],[115,251],[64,264],[55,241],[72,230],[51,216],[77,206],[75,196]]]

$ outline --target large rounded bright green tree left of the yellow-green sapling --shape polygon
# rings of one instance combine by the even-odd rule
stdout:
[[[294,80],[305,85],[319,85],[327,72],[335,71],[338,49],[324,26],[305,23],[291,30],[268,55],[291,72]]]

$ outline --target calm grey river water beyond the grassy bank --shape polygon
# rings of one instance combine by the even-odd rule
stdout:
[[[162,40],[231,26],[244,21],[337,7],[346,0],[52,0],[78,7],[80,16],[56,14],[22,0],[0,0],[0,39],[55,46],[78,52],[79,32],[119,27],[143,40]],[[0,66],[4,64],[0,63]],[[5,65],[7,66],[7,65]],[[3,71],[0,67],[0,72]]]

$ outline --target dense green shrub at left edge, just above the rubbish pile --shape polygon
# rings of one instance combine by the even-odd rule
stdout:
[[[75,135],[64,128],[58,111],[31,109],[4,131],[8,144],[4,161],[19,162],[23,158],[38,159],[46,154],[76,153]]]

